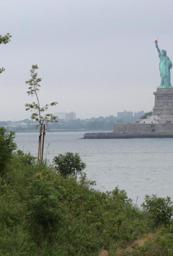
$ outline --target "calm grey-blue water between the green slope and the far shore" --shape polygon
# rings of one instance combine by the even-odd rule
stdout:
[[[125,189],[138,203],[145,194],[173,198],[173,139],[78,140],[85,132],[47,132],[47,158],[77,152],[97,189]],[[38,134],[16,133],[20,149],[37,155]]]

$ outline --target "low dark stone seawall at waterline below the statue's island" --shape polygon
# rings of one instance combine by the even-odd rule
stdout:
[[[135,138],[173,138],[173,133],[114,133],[114,132],[88,132],[82,139],[135,139]]]

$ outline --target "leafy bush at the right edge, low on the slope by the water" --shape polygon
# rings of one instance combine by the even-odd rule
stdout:
[[[146,195],[141,206],[151,214],[156,226],[170,224],[173,215],[173,202],[170,197],[160,198],[157,195]]]

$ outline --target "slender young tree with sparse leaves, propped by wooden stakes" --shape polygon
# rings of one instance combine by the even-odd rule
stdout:
[[[32,103],[26,103],[25,109],[26,111],[31,111],[31,119],[35,122],[37,122],[37,127],[39,127],[39,138],[38,138],[38,162],[42,163],[43,161],[43,151],[44,151],[44,137],[45,137],[45,127],[48,125],[48,123],[57,122],[57,116],[54,116],[53,114],[47,113],[47,110],[51,106],[55,106],[58,103],[53,101],[50,104],[46,104],[41,106],[39,98],[38,98],[38,92],[40,87],[40,82],[42,81],[42,78],[37,77],[36,70],[38,69],[37,64],[32,65],[32,68],[30,70],[31,78],[27,80],[25,83],[28,86],[27,95],[35,96],[36,101],[33,101]],[[45,113],[46,112],[46,113]]]

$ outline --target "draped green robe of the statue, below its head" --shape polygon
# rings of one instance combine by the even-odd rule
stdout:
[[[171,85],[171,74],[170,69],[172,68],[173,64],[169,57],[159,54],[160,57],[160,73],[161,73],[161,85],[164,87],[169,87]]]

